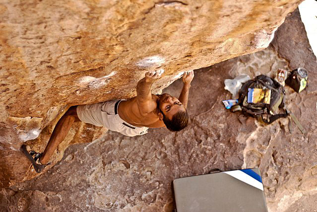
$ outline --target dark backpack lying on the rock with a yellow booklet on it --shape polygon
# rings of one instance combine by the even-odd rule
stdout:
[[[251,103],[249,92],[254,91],[254,89],[262,89],[266,93],[270,93],[268,95],[270,96],[269,104],[263,103],[263,101]],[[283,113],[278,113],[280,108],[283,109]],[[302,133],[306,133],[295,115],[286,108],[284,87],[271,77],[263,74],[256,76],[255,79],[249,80],[242,85],[239,90],[238,104],[232,106],[231,111],[242,111],[244,114],[257,118],[260,123],[265,125],[290,115]]]

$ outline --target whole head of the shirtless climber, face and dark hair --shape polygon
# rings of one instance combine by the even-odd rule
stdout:
[[[159,116],[170,131],[180,131],[187,127],[189,115],[186,108],[169,94],[160,95]]]

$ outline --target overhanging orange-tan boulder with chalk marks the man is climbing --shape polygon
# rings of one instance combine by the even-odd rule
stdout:
[[[69,106],[133,97],[146,71],[164,68],[159,93],[183,71],[262,50],[300,2],[2,0],[0,187],[36,175],[19,149],[43,151]],[[103,133],[76,125],[53,164]]]

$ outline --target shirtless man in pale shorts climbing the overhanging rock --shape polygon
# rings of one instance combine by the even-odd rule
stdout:
[[[151,94],[154,81],[164,70],[149,71],[136,86],[137,96],[129,100],[114,100],[92,105],[71,106],[56,124],[52,136],[42,154],[22,149],[32,162],[35,170],[41,172],[58,145],[66,137],[72,123],[82,121],[126,136],[144,135],[148,128],[167,127],[170,131],[180,131],[188,125],[187,101],[193,71],[183,75],[183,89],[177,99],[169,94]]]

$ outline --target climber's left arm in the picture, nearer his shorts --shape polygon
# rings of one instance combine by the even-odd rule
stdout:
[[[141,79],[136,86],[136,102],[141,114],[152,112],[157,104],[152,100],[151,87],[154,81],[161,77],[164,70],[148,71],[145,73],[145,77]]]

